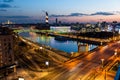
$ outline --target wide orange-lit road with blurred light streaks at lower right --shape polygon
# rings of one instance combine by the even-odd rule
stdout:
[[[119,59],[114,55],[115,49],[119,51],[120,41],[101,47],[100,50],[90,53],[82,59],[76,58],[65,62],[48,72],[48,75],[40,80],[99,80],[99,78],[104,80],[104,70],[109,67],[105,65]],[[101,59],[103,59],[103,63]],[[104,68],[102,68],[103,65]],[[113,80],[114,76],[107,76],[107,78]]]

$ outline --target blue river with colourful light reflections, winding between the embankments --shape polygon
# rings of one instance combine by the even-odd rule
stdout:
[[[32,40],[34,42],[44,44],[44,45],[50,46],[52,48],[56,48],[58,50],[68,52],[68,53],[84,51],[84,50],[87,49],[87,47],[84,46],[84,44],[86,45],[86,43],[83,44],[81,42],[77,42],[77,41],[74,41],[74,40],[58,41],[58,40],[55,40],[54,37],[40,35],[40,34],[36,34],[34,32],[22,32],[19,35],[23,36],[23,37],[25,37],[29,40]],[[81,45],[83,44],[83,45],[78,47],[78,43],[81,44]],[[88,45],[88,51],[90,51],[90,50],[92,50],[96,47],[97,46],[92,45],[92,44]]]

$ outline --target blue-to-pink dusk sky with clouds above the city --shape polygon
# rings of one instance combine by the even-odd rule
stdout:
[[[49,22],[120,22],[119,0],[0,0],[0,22],[16,23]]]

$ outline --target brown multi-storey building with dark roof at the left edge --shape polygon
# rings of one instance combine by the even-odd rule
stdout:
[[[0,68],[14,64],[12,31],[0,27]]]

